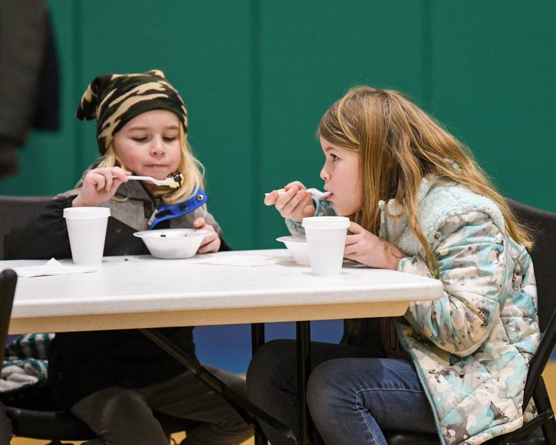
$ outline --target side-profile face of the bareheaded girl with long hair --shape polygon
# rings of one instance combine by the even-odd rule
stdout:
[[[320,177],[325,180],[325,190],[332,192],[327,200],[332,201],[339,215],[351,215],[361,207],[359,153],[329,143],[322,136],[320,145],[325,153]]]

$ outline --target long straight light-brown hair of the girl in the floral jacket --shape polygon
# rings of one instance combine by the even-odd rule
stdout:
[[[502,211],[509,235],[532,248],[530,232],[516,220],[471,151],[402,93],[368,86],[352,88],[322,116],[318,135],[359,152],[361,209],[351,218],[378,234],[377,204],[394,198],[408,213],[409,227],[423,245],[425,261],[435,275],[439,264],[417,218],[417,192],[427,175],[433,181],[455,182],[489,197]]]

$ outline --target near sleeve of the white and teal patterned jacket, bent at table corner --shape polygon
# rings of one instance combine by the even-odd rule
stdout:
[[[404,318],[439,348],[465,357],[482,345],[500,312],[504,239],[489,216],[475,211],[447,220],[435,238],[443,295],[410,303]],[[418,256],[402,258],[398,270],[432,277]]]

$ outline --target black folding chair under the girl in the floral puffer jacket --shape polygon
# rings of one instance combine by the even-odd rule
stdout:
[[[531,257],[537,280],[539,324],[543,337],[532,359],[525,382],[523,410],[532,397],[539,416],[525,423],[519,430],[495,437],[486,444],[555,445],[556,421],[542,373],[556,344],[556,274],[552,261],[556,252],[556,213],[535,209],[513,200],[507,202],[518,219],[532,229],[535,241]],[[436,435],[411,435],[400,432],[386,435],[386,442],[389,445],[431,445],[439,443],[439,439]]]

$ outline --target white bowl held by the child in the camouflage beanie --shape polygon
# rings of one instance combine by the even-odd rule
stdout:
[[[133,235],[143,240],[153,257],[179,259],[193,257],[209,233],[208,230],[160,229],[143,230]]]

